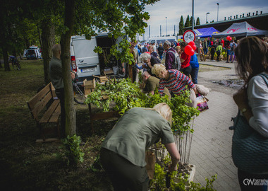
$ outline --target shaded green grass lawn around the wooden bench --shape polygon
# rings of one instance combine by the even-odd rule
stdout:
[[[27,101],[44,86],[42,60],[20,61],[21,71],[0,69],[0,190],[111,190],[103,170],[90,170],[100,144],[116,120],[94,122],[90,128],[87,105],[75,105],[77,134],[85,146],[83,163],[66,166],[59,157],[61,141],[35,143],[39,129]]]

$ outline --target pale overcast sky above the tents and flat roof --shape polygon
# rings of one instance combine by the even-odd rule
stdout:
[[[243,13],[245,16],[247,13],[260,11],[262,13],[268,13],[268,0],[195,0],[194,1],[194,17],[200,18],[200,24],[217,21],[217,3],[219,3],[219,21],[224,21],[229,16],[238,15],[238,18]],[[160,0],[152,6],[146,7],[145,11],[150,14],[150,20],[147,24],[150,25],[151,37],[160,35],[160,25],[162,25],[162,35],[166,35],[166,24],[167,33],[172,35],[174,33],[174,25],[176,33],[178,33],[178,23],[180,22],[181,16],[185,23],[187,16],[192,16],[193,0]],[[209,13],[209,14],[206,14]],[[145,40],[149,36],[149,30],[145,30]],[[142,37],[140,37],[142,40]]]

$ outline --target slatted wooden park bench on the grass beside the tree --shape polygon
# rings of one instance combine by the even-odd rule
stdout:
[[[56,98],[55,88],[52,83],[47,84],[41,91],[28,101],[28,107],[32,117],[37,122],[37,127],[41,130],[42,139],[37,142],[57,141],[61,134],[59,131],[59,116],[61,115],[61,105],[59,99]],[[52,128],[56,132],[58,138],[46,138],[45,134],[49,132],[49,128],[45,125],[52,124]]]

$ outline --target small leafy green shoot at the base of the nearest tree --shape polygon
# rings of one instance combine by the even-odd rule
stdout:
[[[79,162],[83,162],[83,156],[85,155],[80,149],[81,139],[74,134],[72,137],[69,135],[66,139],[63,139],[63,145],[65,146],[65,154],[67,165],[77,165]]]

